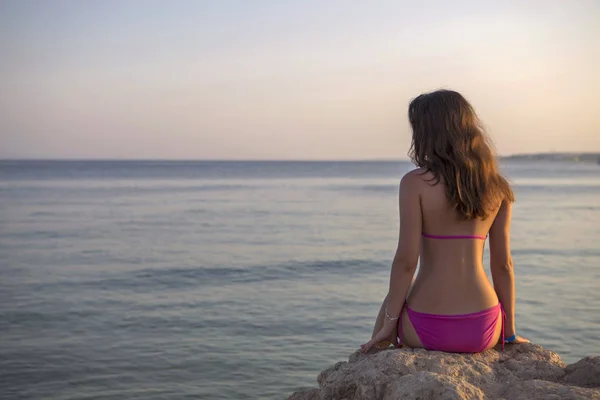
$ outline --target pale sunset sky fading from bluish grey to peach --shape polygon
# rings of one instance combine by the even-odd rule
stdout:
[[[438,88],[600,152],[600,1],[0,2],[0,158],[405,159]]]

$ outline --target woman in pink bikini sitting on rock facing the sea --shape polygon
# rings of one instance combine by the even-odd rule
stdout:
[[[389,293],[362,351],[391,342],[477,353],[501,337],[528,342],[515,330],[514,196],[473,107],[459,93],[439,90],[414,99],[408,118],[409,154],[418,169],[400,182],[400,238]],[[482,261],[488,236],[494,286]]]

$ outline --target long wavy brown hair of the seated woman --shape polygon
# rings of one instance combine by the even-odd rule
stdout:
[[[501,201],[514,201],[481,121],[460,93],[422,94],[410,102],[408,119],[413,131],[408,155],[435,183],[443,181],[463,219],[485,219]]]

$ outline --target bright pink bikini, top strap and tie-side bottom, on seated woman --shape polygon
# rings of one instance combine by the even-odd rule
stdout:
[[[480,239],[486,236],[439,236],[423,233],[429,239]],[[426,314],[411,310],[405,304],[408,318],[423,347],[452,353],[479,353],[494,340],[498,313],[502,313],[502,346],[504,348],[504,309],[500,303],[483,311],[460,315]],[[514,340],[514,339],[513,339]],[[398,343],[402,343],[402,318],[398,320]]]

